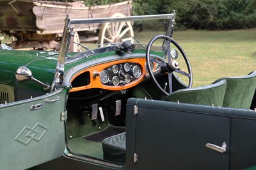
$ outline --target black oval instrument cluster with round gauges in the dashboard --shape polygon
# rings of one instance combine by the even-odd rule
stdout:
[[[99,73],[102,84],[108,86],[125,86],[141,75],[141,67],[136,63],[120,63],[105,68]]]

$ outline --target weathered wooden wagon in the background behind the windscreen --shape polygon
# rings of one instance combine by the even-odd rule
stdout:
[[[84,6],[83,1],[63,3],[56,1],[38,0],[1,0],[0,1],[0,30],[6,35],[14,36],[15,41],[8,44],[13,49],[60,49],[64,19],[67,14],[71,19],[80,18],[102,18],[130,16],[132,1],[121,3]],[[116,27],[125,27],[115,36],[109,36],[109,29],[115,24],[84,24],[74,27],[76,31],[72,41],[88,42],[98,41],[116,42],[124,38],[125,34],[133,36],[131,23],[116,24]],[[108,30],[109,29],[109,30]],[[73,44],[73,43],[72,43]],[[71,45],[70,51],[79,50],[75,43]]]

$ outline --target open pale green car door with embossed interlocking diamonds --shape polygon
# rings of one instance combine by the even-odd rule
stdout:
[[[68,89],[0,105],[0,169],[27,169],[61,157]]]

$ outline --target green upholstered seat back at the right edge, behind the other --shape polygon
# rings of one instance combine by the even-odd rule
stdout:
[[[250,109],[256,88],[256,71],[239,77],[223,77],[215,82],[223,79],[227,81],[223,107]]]

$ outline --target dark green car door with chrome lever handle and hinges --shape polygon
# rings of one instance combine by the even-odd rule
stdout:
[[[204,105],[129,99],[127,166],[229,169],[231,112]],[[223,153],[206,147],[206,144],[221,146],[223,142],[227,145]]]

